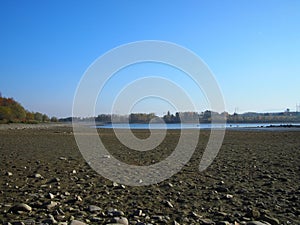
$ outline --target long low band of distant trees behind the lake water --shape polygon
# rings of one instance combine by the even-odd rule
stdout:
[[[117,114],[100,114],[97,117],[88,118],[72,118],[68,117],[60,119],[62,122],[71,121],[96,121],[96,123],[160,123],[163,120],[165,123],[211,123],[224,122],[227,123],[299,123],[299,112],[278,112],[278,113],[244,113],[244,114],[229,114],[227,112],[218,113],[210,110],[204,112],[176,112],[175,115],[167,112],[167,114],[159,117],[154,113],[131,113],[130,115]]]

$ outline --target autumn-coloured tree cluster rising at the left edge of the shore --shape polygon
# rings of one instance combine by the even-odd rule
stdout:
[[[0,96],[0,123],[39,123],[57,122],[56,117],[51,119],[40,112],[30,112],[13,98]]]

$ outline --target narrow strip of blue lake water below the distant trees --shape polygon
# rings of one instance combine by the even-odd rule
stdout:
[[[227,123],[227,124],[209,124],[209,123],[201,123],[201,124],[180,124],[180,123],[170,123],[170,124],[163,124],[163,123],[152,123],[150,126],[149,124],[144,123],[116,123],[116,124],[105,124],[101,126],[96,126],[96,128],[114,128],[114,129],[220,129],[220,128],[263,128],[267,126],[279,126],[279,125],[297,125],[300,126],[300,123]],[[128,127],[129,126],[129,127]]]

